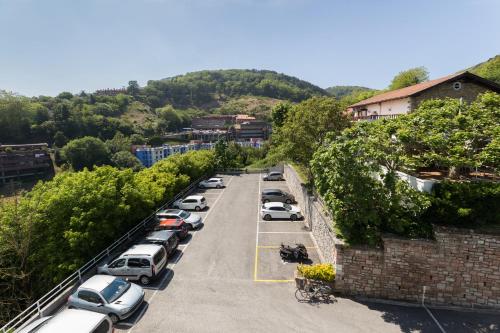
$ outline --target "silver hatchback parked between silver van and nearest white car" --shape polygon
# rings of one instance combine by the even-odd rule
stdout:
[[[103,313],[116,323],[130,317],[143,300],[140,286],[115,276],[94,275],[69,296],[68,307]]]

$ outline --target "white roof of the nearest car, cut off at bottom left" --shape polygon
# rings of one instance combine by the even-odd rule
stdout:
[[[51,317],[37,332],[62,333],[68,332],[68,327],[71,327],[72,333],[88,333],[89,329],[95,328],[106,317],[93,311],[65,309]]]

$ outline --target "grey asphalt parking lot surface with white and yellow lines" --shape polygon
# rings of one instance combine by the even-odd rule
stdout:
[[[258,174],[222,176],[223,189],[198,190],[209,208],[158,280],[143,306],[116,325],[119,332],[500,332],[495,314],[432,310],[337,298],[330,304],[295,299],[296,264],[281,243],[303,243],[319,262],[301,221],[261,219],[260,191],[286,182]]]

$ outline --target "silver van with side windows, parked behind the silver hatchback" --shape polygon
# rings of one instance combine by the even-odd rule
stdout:
[[[167,251],[155,244],[134,245],[109,264],[97,267],[97,273],[139,280],[147,285],[167,265]]]

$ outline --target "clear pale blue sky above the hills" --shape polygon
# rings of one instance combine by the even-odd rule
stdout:
[[[498,0],[0,0],[0,89],[94,91],[202,69],[386,87],[500,53]]]

